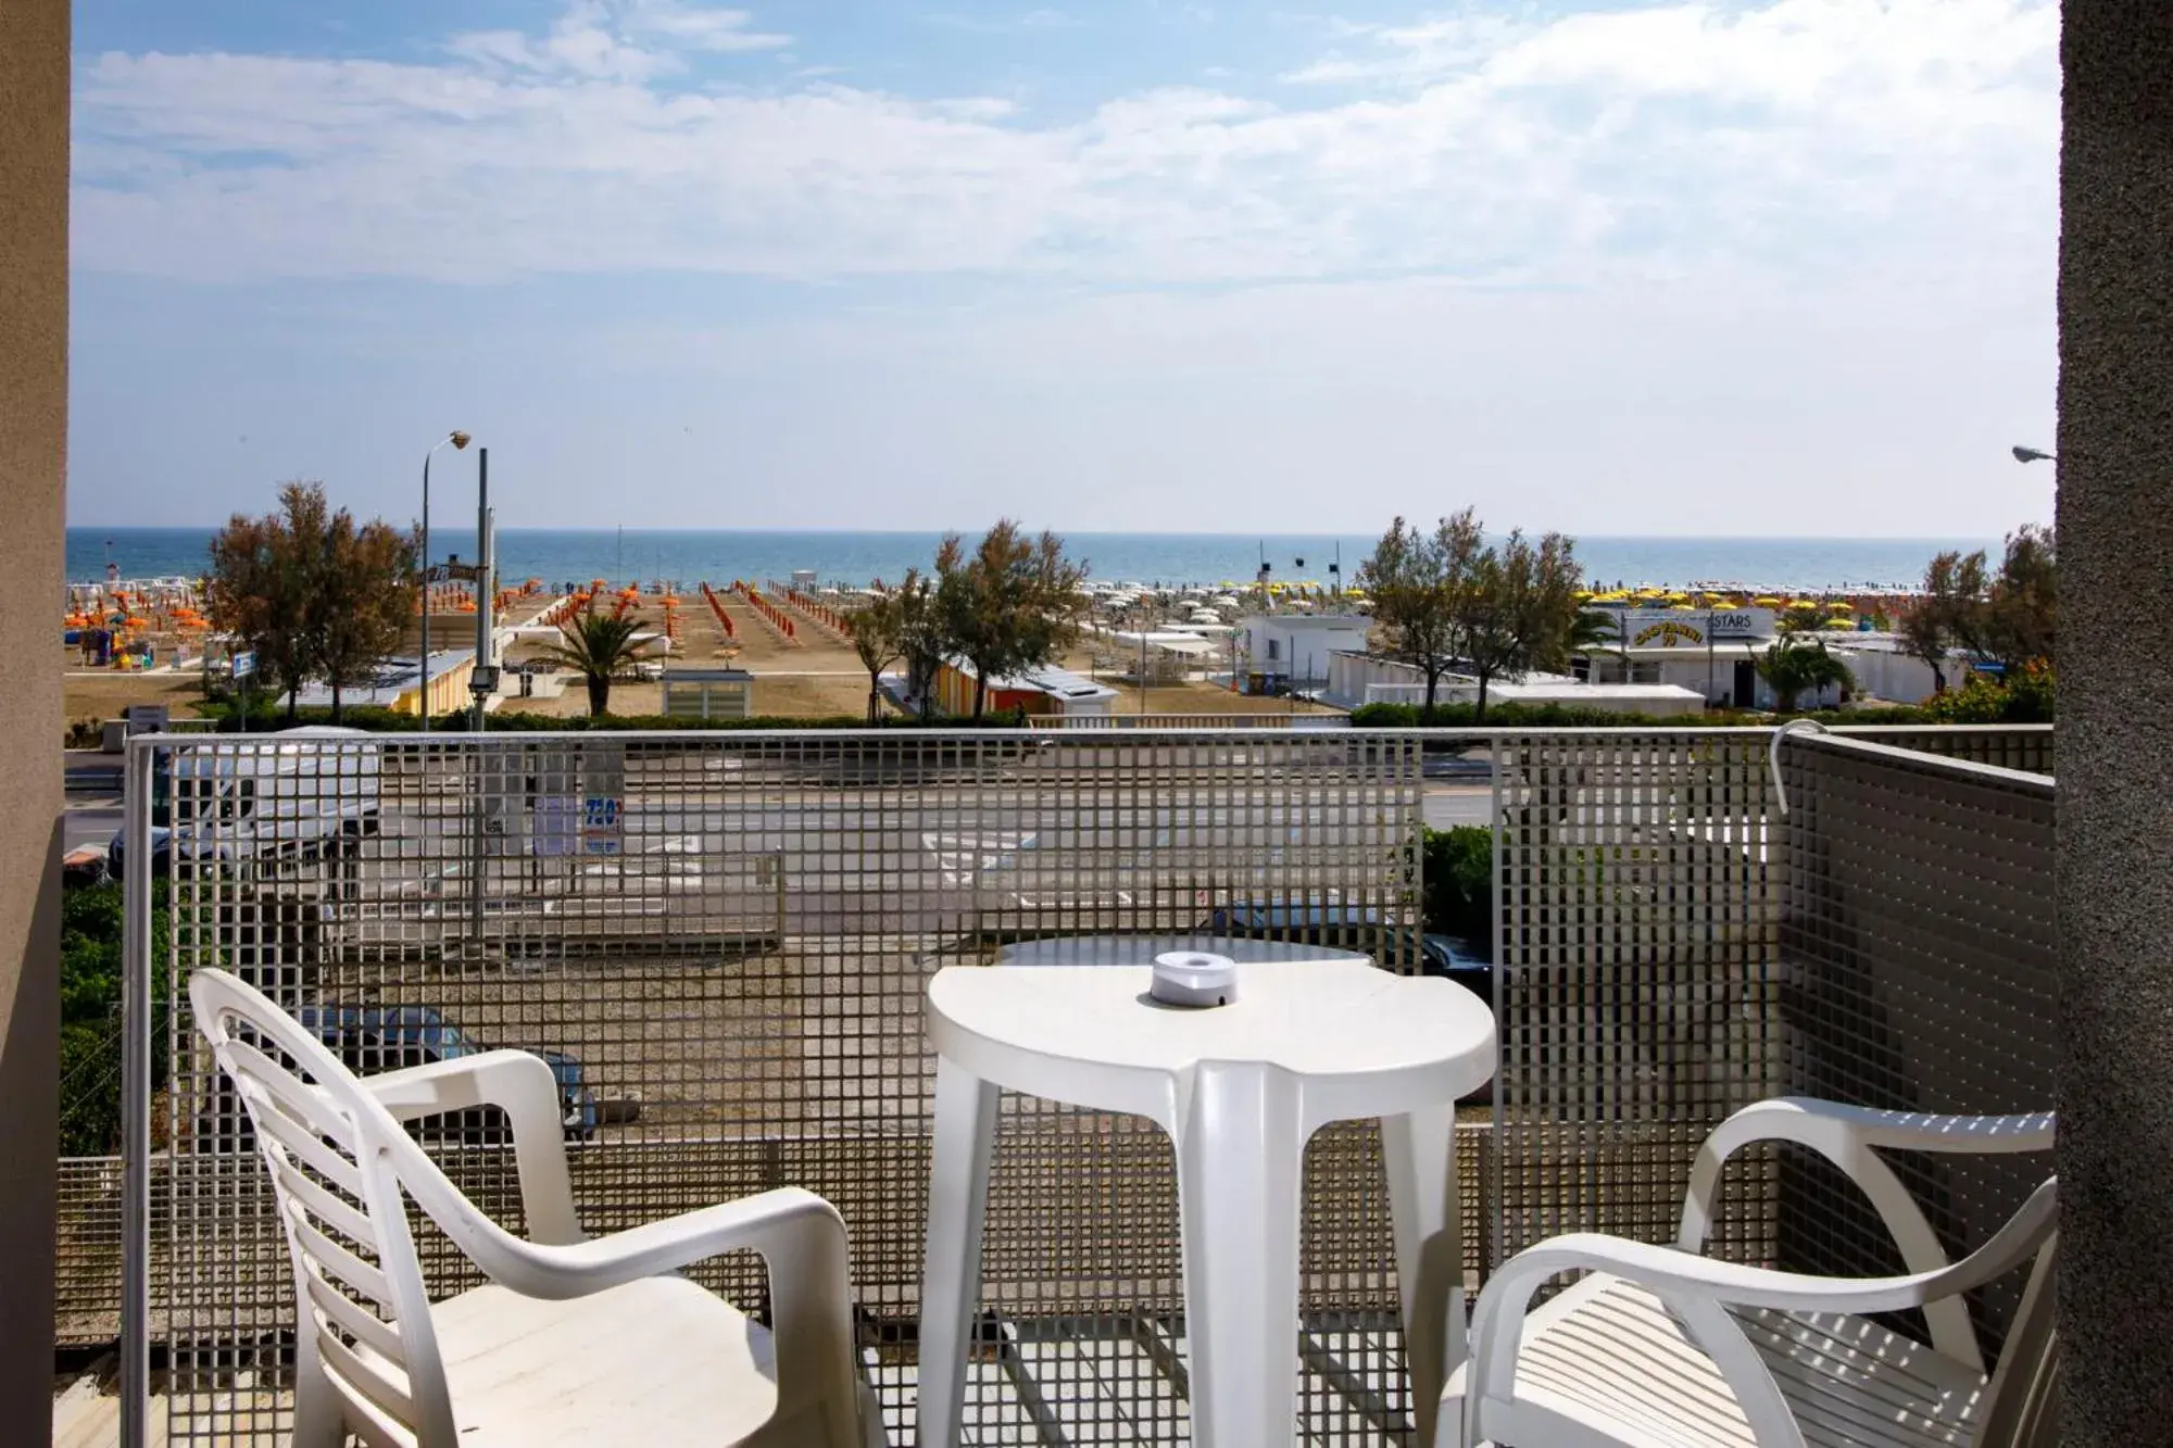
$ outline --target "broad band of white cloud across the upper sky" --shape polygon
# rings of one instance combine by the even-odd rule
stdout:
[[[78,70],[78,263],[202,278],[695,270],[1923,285],[2049,263],[2053,0],[1658,4],[1345,26],[1269,102],[695,80],[745,11],[571,4],[441,61],[106,54]],[[1339,70],[1341,67],[1341,70]]]

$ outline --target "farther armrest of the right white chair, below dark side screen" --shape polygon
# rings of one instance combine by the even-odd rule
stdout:
[[[1736,1111],[1721,1122],[1697,1150],[1691,1165],[1691,1187],[1682,1200],[1682,1228],[1675,1246],[1704,1252],[1712,1231],[1712,1209],[1721,1191],[1721,1168],[1756,1141],[1795,1141],[1808,1146],[1856,1183],[1886,1224],[1886,1233],[1910,1272],[1936,1272],[1947,1265],[1947,1250],[1925,1220],[1917,1198],[1908,1194],[1895,1170],[1875,1148],[1917,1152],[2038,1152],[2051,1150],[2053,1113],[2030,1115],[1932,1115],[1923,1111],[1877,1111],[1849,1107],[1812,1096],[1780,1096]],[[1977,1333],[1962,1302],[1925,1307],[1932,1346],[1984,1372]]]

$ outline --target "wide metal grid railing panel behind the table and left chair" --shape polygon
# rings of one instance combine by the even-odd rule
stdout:
[[[237,970],[363,1072],[482,1046],[548,1052],[589,1231],[784,1183],[824,1194],[852,1231],[865,1359],[910,1441],[932,1096],[921,994],[937,968],[1021,937],[1193,933],[1254,900],[1349,904],[1378,924],[1336,944],[1417,963],[1412,735],[152,748],[152,817],[172,828],[154,857],[172,876],[172,1078],[152,1111],[172,1209],[154,1222],[150,1300],[174,1441],[282,1428],[293,1333],[265,1172],[187,1013],[196,968]],[[1482,1133],[1460,1135],[1471,1185]],[[487,1118],[456,1118],[428,1141],[519,1228],[495,1137]],[[437,1294],[474,1281],[435,1231],[419,1244]],[[1371,1126],[1315,1139],[1304,1244],[1308,1439],[1402,1433]],[[1006,1096],[984,1272],[978,1441],[1186,1437],[1158,1133]],[[761,1309],[756,1261],[702,1274]]]

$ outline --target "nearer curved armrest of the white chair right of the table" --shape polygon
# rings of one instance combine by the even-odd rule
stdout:
[[[1532,1296],[1556,1274],[1610,1272],[1649,1287],[1693,1326],[1699,1346],[1714,1357],[1745,1405],[1778,1405],[1771,1374],[1756,1355],[1728,1341],[1728,1337],[1741,1341],[1741,1328],[1714,1313],[1717,1305],[1797,1313],[1884,1313],[1956,1300],[2027,1261],[2051,1239],[2056,1215],[2058,1187],[2053,1181],[2045,1181],[1990,1241],[1962,1261],[1932,1272],[1873,1278],[1745,1268],[1680,1248],[1599,1233],[1552,1237],[1508,1259],[1480,1294],[1471,1315],[1467,1413],[1475,1413],[1482,1400],[1512,1400],[1525,1313],[1532,1307]]]

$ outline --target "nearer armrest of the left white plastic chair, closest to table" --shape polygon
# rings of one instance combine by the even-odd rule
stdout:
[[[461,1246],[476,1265],[532,1298],[580,1298],[719,1252],[761,1252],[769,1270],[778,1413],[856,1400],[845,1220],[813,1191],[780,1187],[565,1246],[522,1241],[480,1213],[469,1224],[480,1224],[482,1237]]]

